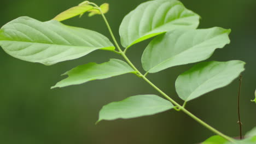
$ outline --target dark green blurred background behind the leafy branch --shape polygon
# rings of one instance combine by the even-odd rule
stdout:
[[[181,0],[184,5],[201,15],[200,28],[214,26],[231,28],[231,44],[218,49],[207,61],[240,59],[247,63],[243,73],[241,117],[243,131],[256,126],[256,1],[255,0]],[[19,16],[30,16],[48,21],[61,11],[82,1],[61,0],[1,0],[0,26]],[[123,17],[144,0],[95,0],[108,2],[106,14],[117,36]],[[110,38],[100,16],[64,21],[72,26],[100,32]],[[119,36],[118,36],[119,37]],[[149,41],[132,46],[127,55],[139,69],[140,57]],[[0,143],[5,144],[108,144],[108,143],[198,143],[214,135],[182,112],[174,110],[154,116],[129,120],[103,121],[98,125],[98,111],[105,104],[131,95],[158,94],[146,82],[132,74],[92,81],[79,86],[50,89],[61,80],[65,71],[89,62],[102,63],[109,58],[121,58],[107,51],[96,51],[74,61],[46,67],[8,56],[0,49]],[[182,65],[150,74],[149,79],[167,94],[178,99],[174,81],[192,65]],[[237,136],[238,80],[231,85],[205,94],[191,101],[187,108],[214,128],[230,136]]]

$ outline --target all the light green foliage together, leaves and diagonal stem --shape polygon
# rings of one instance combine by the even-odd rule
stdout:
[[[185,104],[189,100],[229,85],[245,70],[245,62],[242,61],[201,62],[211,57],[214,50],[230,43],[231,30],[220,27],[196,29],[200,16],[185,8],[181,2],[154,0],[138,5],[135,10],[124,17],[119,28],[120,41],[125,47],[125,50],[122,50],[104,16],[108,10],[109,4],[107,3],[98,7],[95,3],[85,1],[46,22],[30,17],[19,17],[0,29],[0,46],[10,56],[45,65],[76,59],[96,50],[117,53],[123,56],[126,62],[110,59],[109,62],[102,64],[80,65],[65,73],[68,77],[52,88],[79,85],[92,80],[132,73],[148,82],[167,100],[148,94],[110,103],[101,109],[98,122],[103,119],[149,116],[173,108],[183,111],[218,134],[206,140],[205,144],[219,144],[226,141],[240,143],[220,133],[185,109]],[[74,16],[82,16],[87,12],[89,12],[88,16],[102,15],[115,46],[100,33],[66,26],[60,22]],[[142,55],[142,66],[146,71],[142,74],[127,58],[125,52],[130,46],[152,37],[155,38],[148,44]],[[183,106],[162,92],[146,77],[149,73],[157,73],[177,65],[196,62],[201,63],[179,75],[175,83],[179,97],[184,100]],[[256,99],[254,101],[256,102]],[[255,140],[254,138],[249,137],[243,142],[250,143]]]

